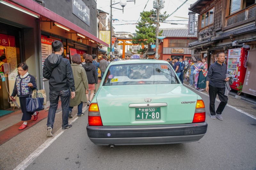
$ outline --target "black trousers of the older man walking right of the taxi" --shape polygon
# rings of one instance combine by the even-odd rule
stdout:
[[[222,111],[224,110],[226,104],[228,103],[228,97],[224,95],[225,93],[225,88],[218,88],[209,85],[209,96],[210,96],[210,113],[211,115],[221,114]],[[215,99],[216,96],[219,96],[220,99],[220,104],[215,112]]]

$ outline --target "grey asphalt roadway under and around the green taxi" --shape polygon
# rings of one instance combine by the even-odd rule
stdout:
[[[213,120],[209,97],[196,93],[205,102],[208,123],[198,142],[98,146],[87,137],[86,110],[26,169],[256,169],[256,120],[228,106],[222,121]]]

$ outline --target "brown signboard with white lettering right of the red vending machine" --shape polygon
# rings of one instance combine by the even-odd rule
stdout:
[[[256,50],[250,50],[248,51],[248,64],[247,64],[247,70],[246,74],[244,77],[244,85],[242,92],[256,96],[256,79],[255,79],[255,74],[256,74],[256,67],[255,67],[255,62],[256,62]]]

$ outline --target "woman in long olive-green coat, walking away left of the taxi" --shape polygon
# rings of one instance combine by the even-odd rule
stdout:
[[[81,65],[81,56],[79,54],[75,54],[72,56],[71,68],[74,75],[75,80],[75,88],[76,88],[76,96],[75,98],[71,99],[70,97],[70,104],[69,104],[69,114],[68,117],[72,118],[72,109],[74,106],[77,106],[77,116],[84,116],[82,113],[83,102],[87,102],[85,94],[89,93],[88,89],[88,81],[87,75],[85,73],[84,67]]]

